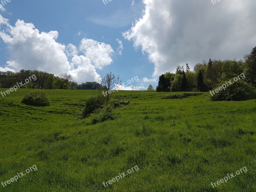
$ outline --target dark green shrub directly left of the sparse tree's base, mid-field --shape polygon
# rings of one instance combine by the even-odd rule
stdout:
[[[96,109],[103,108],[106,103],[106,98],[100,94],[92,96],[85,101],[85,108],[82,112],[84,118],[92,114]]]

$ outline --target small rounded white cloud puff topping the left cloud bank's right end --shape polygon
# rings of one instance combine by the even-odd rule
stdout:
[[[102,69],[113,62],[111,56],[114,50],[109,44],[84,38],[80,43],[79,49],[84,53],[85,57],[92,61],[95,68]]]

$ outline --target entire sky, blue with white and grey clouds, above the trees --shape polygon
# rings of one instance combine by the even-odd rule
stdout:
[[[8,1],[0,71],[66,72],[79,84],[112,72],[120,89],[145,90],[178,65],[240,60],[256,46],[255,0]]]

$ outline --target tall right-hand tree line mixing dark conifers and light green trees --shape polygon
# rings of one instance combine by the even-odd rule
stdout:
[[[159,76],[157,92],[185,92],[212,90],[222,81],[245,74],[247,83],[256,87],[256,47],[243,59],[236,60],[205,60],[196,64],[191,71],[188,63],[178,66],[175,73],[166,72]]]

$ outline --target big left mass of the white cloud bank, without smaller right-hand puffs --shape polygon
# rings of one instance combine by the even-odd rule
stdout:
[[[0,32],[0,37],[8,45],[11,60],[9,67],[15,69],[39,69],[54,74],[67,72],[70,69],[65,45],[56,42],[57,31],[39,33],[32,23],[18,20],[9,33]]]

